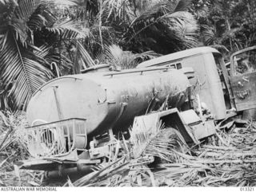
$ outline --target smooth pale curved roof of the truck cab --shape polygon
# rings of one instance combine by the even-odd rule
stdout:
[[[217,49],[211,47],[198,47],[193,49],[186,49],[176,53],[171,53],[162,57],[157,57],[149,61],[144,61],[137,66],[137,68],[146,68],[154,65],[166,63],[167,61],[180,60],[182,58],[191,57],[203,53],[219,53]]]

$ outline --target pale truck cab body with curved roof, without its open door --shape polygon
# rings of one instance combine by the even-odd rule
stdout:
[[[204,108],[214,116],[214,120],[222,120],[226,118],[226,105],[230,105],[224,100],[228,89],[222,76],[223,65],[225,63],[218,50],[199,47],[144,61],[137,68],[168,66],[175,69],[194,69],[194,78],[190,79],[190,99],[193,100],[194,108],[198,108],[199,98]]]

